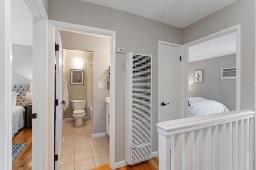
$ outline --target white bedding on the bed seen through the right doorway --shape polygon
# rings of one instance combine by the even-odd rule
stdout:
[[[228,111],[228,108],[216,102],[205,98],[189,98],[188,117],[210,115],[213,113],[222,113]]]

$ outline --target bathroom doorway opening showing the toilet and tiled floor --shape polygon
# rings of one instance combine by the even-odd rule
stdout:
[[[63,145],[56,143],[62,145],[57,166],[74,164],[76,167],[89,161],[93,165],[90,168],[106,163],[112,168],[115,166],[115,31],[59,21],[50,21],[50,24],[53,31],[60,32],[63,73],[69,94],[64,121],[59,121],[63,122],[63,135],[58,140],[62,140]],[[77,111],[79,113],[74,113]],[[81,122],[77,121],[80,119]],[[71,162],[62,162],[65,156],[73,157],[69,159]]]

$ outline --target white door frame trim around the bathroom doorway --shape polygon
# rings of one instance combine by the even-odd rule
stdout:
[[[115,85],[116,85],[116,31],[101,29],[96,27],[89,27],[85,25],[78,25],[74,23],[67,23],[61,21],[49,20],[49,57],[54,58],[54,50],[50,50],[50,46],[53,47],[55,44],[54,30],[60,29],[63,31],[71,31],[76,33],[96,34],[110,37],[110,167],[115,169]],[[51,67],[54,67],[54,61],[52,61]],[[50,77],[49,77],[50,78]],[[54,77],[50,79],[54,80]]]

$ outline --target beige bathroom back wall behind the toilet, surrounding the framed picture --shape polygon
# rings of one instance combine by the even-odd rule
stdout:
[[[62,39],[62,43],[63,42],[64,41]],[[82,100],[82,99],[87,100],[87,61],[92,61],[93,53],[65,49],[64,55],[65,55],[64,74],[66,74],[68,94],[69,94],[68,108],[66,109],[66,111],[64,111],[64,119],[65,119],[65,118],[72,118],[73,111],[71,108],[71,100]],[[83,85],[70,84],[70,69],[84,70]],[[87,104],[86,104],[86,109],[87,109]],[[86,112],[86,116],[87,115],[88,115],[88,112]]]

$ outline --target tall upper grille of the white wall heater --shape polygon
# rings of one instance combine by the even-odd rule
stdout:
[[[132,147],[150,142],[150,135],[151,57],[134,54],[132,55]]]

